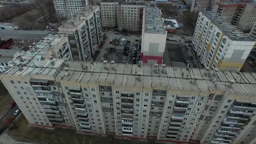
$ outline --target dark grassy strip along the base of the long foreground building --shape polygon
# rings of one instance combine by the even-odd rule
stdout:
[[[72,143],[72,144],[80,144],[80,143],[88,143],[88,144],[154,144],[155,140],[124,140],[124,139],[114,139],[112,135],[108,135],[106,137],[101,136],[91,136],[85,134],[77,134],[75,130],[69,129],[61,129],[56,128],[54,130],[48,130],[43,128],[34,128],[28,127],[28,123],[26,118],[21,115],[18,120],[18,128],[10,130],[11,133],[22,134],[26,136],[33,137],[34,139],[38,139],[38,143]],[[10,134],[15,140],[18,141],[27,141],[30,142],[32,139],[28,139],[25,136],[13,135]],[[35,141],[31,141],[35,142]]]

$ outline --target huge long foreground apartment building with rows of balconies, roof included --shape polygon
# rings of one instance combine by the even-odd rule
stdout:
[[[35,58],[0,77],[33,126],[160,141],[255,141],[255,73]]]

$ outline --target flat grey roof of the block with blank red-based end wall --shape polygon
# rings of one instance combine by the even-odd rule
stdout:
[[[145,8],[145,33],[165,34],[164,23],[158,7]]]

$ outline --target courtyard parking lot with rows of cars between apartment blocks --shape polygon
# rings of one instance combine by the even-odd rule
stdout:
[[[115,61],[115,63],[137,63],[140,58],[138,34],[115,33],[113,30],[103,32],[104,44],[100,47],[100,53],[96,62]],[[125,40],[124,40],[125,39]]]

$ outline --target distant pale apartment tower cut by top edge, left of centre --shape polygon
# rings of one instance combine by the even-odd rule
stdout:
[[[88,5],[87,0],[53,0],[59,18],[71,18]]]

